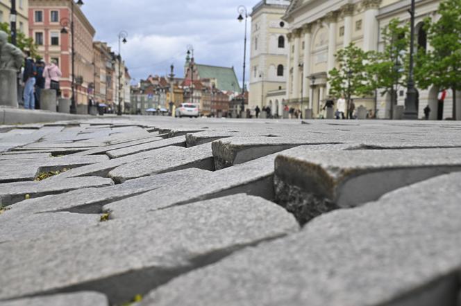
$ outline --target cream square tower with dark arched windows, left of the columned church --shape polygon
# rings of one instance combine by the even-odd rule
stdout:
[[[276,110],[278,109],[276,105],[285,102],[289,24],[283,21],[282,17],[289,5],[290,1],[287,0],[262,0],[251,12],[249,77],[251,109],[256,106],[260,109],[270,106],[271,109]]]

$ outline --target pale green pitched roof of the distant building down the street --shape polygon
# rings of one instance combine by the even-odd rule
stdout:
[[[240,92],[239,81],[233,68],[208,66],[196,64],[196,68],[199,72],[200,78],[202,79],[216,79],[217,89],[221,91],[237,91]]]

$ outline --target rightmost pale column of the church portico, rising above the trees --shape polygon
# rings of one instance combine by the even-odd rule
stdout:
[[[376,50],[378,47],[379,24],[376,19],[381,0],[362,0],[364,8],[363,26],[363,50]]]

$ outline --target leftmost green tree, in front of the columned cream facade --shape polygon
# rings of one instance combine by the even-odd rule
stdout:
[[[369,52],[351,43],[335,54],[338,66],[328,71],[330,95],[347,98],[348,115],[351,96],[370,96],[373,93],[367,69],[369,55]]]

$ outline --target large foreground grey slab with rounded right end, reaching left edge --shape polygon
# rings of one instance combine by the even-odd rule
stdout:
[[[298,228],[280,206],[234,195],[6,243],[0,249],[0,300],[89,290],[106,294],[112,304],[123,303],[244,246]]]

